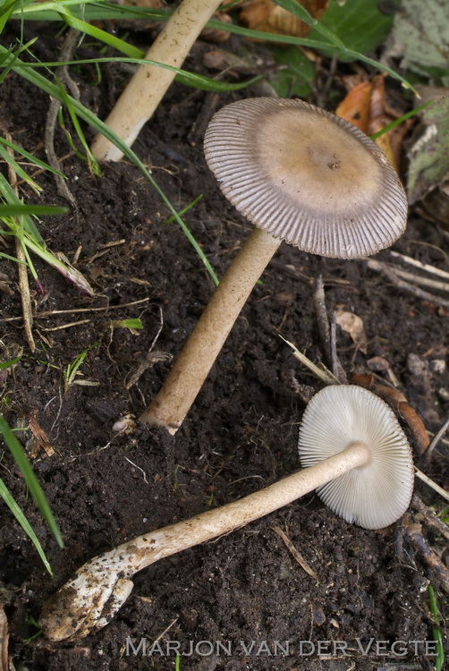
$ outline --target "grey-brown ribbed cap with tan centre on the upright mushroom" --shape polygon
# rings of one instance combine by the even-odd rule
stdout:
[[[383,151],[352,123],[302,100],[224,106],[204,149],[235,208],[303,251],[358,259],[405,229],[407,198]]]

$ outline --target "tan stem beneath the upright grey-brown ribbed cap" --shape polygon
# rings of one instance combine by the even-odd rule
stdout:
[[[165,427],[172,435],[191,409],[209,370],[258,277],[281,241],[255,228],[216,287],[189,340],[140,421]]]

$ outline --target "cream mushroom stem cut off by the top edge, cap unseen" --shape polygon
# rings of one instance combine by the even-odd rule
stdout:
[[[165,28],[159,33],[145,58],[180,68],[219,4],[220,0],[183,0],[166,22]],[[131,78],[106,119],[109,128],[129,147],[144,123],[155,112],[175,76],[176,72],[165,68],[140,65]],[[106,140],[104,135],[96,136],[91,149],[98,160],[119,161],[123,157],[122,151],[110,140]]]

